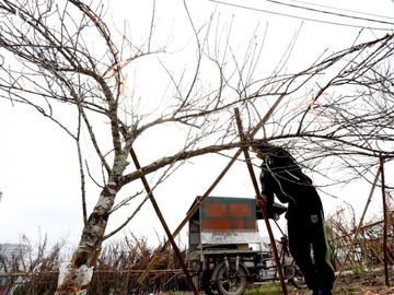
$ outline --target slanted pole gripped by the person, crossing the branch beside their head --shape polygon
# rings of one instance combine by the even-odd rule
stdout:
[[[243,128],[242,128],[242,121],[241,121],[241,118],[240,118],[240,110],[237,108],[235,108],[234,113],[235,113],[236,126],[237,126],[237,129],[239,129],[241,141],[245,141],[245,134],[242,131]],[[250,156],[247,148],[242,148],[242,150],[243,150],[244,155],[245,155],[246,166],[247,166],[247,169],[248,169],[250,175],[251,175],[251,179],[252,179],[252,184],[253,184],[253,187],[254,187],[254,190],[255,190],[255,193],[256,193],[256,201],[257,201],[257,199],[262,198],[262,196],[260,196],[260,191],[259,191],[259,188],[258,188],[258,185],[257,185],[256,175],[255,175],[255,173],[253,170],[251,156]],[[285,283],[283,272],[282,272],[282,269],[280,267],[280,261],[279,261],[279,257],[278,257],[278,249],[276,247],[276,241],[275,241],[275,238],[274,238],[273,229],[271,229],[270,224],[269,224],[268,214],[267,214],[267,208],[265,205],[263,205],[262,203],[259,203],[259,206],[262,209],[265,225],[266,225],[267,231],[268,231],[269,240],[271,243],[274,259],[275,259],[275,263],[276,263],[277,271],[278,271],[278,274],[279,274],[280,286],[282,288],[283,294],[287,295],[288,293],[287,293],[287,287],[286,287],[286,283]]]

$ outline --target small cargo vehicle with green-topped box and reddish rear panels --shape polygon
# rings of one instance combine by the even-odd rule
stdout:
[[[201,202],[201,197],[196,202]],[[274,208],[273,215],[286,211],[278,203]],[[194,283],[207,295],[242,295],[247,284],[279,280],[273,251],[269,245],[264,247],[259,235],[258,220],[263,214],[255,199],[211,196],[190,217],[188,269],[194,273]],[[277,247],[286,281],[302,287],[302,275],[288,251],[285,235]]]

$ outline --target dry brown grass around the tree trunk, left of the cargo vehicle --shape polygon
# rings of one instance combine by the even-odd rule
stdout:
[[[0,278],[4,280],[0,293],[54,294],[58,267],[67,259],[63,253],[65,243],[49,248],[44,238],[34,247],[24,238],[22,245],[12,256],[0,256]],[[123,240],[108,244],[97,260],[89,294],[131,294],[137,279],[160,248],[150,248],[143,238],[124,237]],[[141,290],[177,290],[182,288],[183,281],[177,260],[170,248],[160,253],[154,270]]]

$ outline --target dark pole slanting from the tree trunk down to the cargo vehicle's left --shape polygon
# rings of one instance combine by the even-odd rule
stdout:
[[[137,154],[136,154],[136,152],[134,151],[132,148],[131,148],[131,150],[130,150],[130,155],[131,155],[132,161],[134,161],[134,163],[135,163],[135,165],[136,165],[136,168],[137,168],[137,169],[141,169],[141,166],[140,166],[139,162],[138,162]],[[163,225],[163,228],[164,228],[164,231],[165,231],[165,234],[166,234],[167,237],[169,237],[169,240],[170,240],[170,243],[171,243],[171,245],[172,245],[172,247],[173,247],[173,249],[174,249],[174,252],[175,252],[177,259],[179,260],[181,268],[182,268],[183,272],[185,273],[187,283],[188,283],[189,286],[192,287],[193,293],[194,293],[195,295],[198,295],[198,290],[197,290],[196,285],[194,284],[193,279],[192,279],[189,272],[187,271],[187,267],[186,267],[186,264],[185,264],[185,261],[184,261],[183,258],[182,258],[181,251],[179,251],[178,247],[176,246],[176,243],[175,243],[175,240],[174,240],[174,237],[172,236],[172,234],[171,234],[171,232],[170,232],[170,228],[169,228],[169,226],[167,226],[167,224],[166,224],[166,222],[165,222],[165,220],[164,220],[164,217],[163,217],[163,214],[162,214],[161,211],[160,211],[160,208],[159,208],[159,205],[158,205],[158,202],[155,201],[155,199],[154,199],[154,197],[153,197],[153,192],[152,192],[152,190],[151,190],[151,188],[150,188],[150,186],[149,186],[149,184],[148,184],[148,180],[147,180],[147,178],[146,178],[143,175],[141,176],[141,181],[142,181],[143,187],[144,187],[144,189],[146,189],[146,191],[147,191],[147,193],[148,193],[148,196],[149,196],[149,199],[150,199],[151,202],[152,202],[152,205],[153,205],[153,208],[154,208],[154,211],[157,212],[158,217],[159,217],[161,224]]]

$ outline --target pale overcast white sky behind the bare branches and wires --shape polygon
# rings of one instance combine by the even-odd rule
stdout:
[[[212,13],[217,16],[220,14],[227,24],[230,24],[233,17],[230,42],[240,48],[247,45],[245,40],[252,36],[257,24],[263,28],[258,31],[257,38],[263,37],[267,27],[263,58],[267,67],[278,62],[298,30],[299,37],[289,63],[294,70],[310,66],[325,49],[336,51],[351,46],[362,26],[367,28],[359,36],[359,42],[371,40],[390,32],[368,27],[394,28],[394,25],[390,24],[394,19],[389,17],[394,15],[394,2],[391,0],[281,2],[287,5],[263,0],[187,1],[196,24],[208,22]],[[328,3],[332,8],[323,7]],[[172,48],[178,49],[186,46],[190,31],[185,31],[186,15],[182,1],[157,1],[157,5],[155,14],[160,32],[163,32],[163,43],[170,42]],[[297,9],[294,5],[313,10]],[[339,17],[324,13],[328,10],[357,17]],[[128,20],[131,27],[136,27],[134,36],[138,39],[141,23],[150,20],[150,12],[151,1],[111,0],[107,21],[111,25],[121,27],[123,20]],[[181,68],[185,66],[182,59],[174,60],[179,61]],[[147,75],[147,84],[153,82],[150,71],[141,73],[143,74]],[[155,138],[159,142],[167,140],[160,132]],[[151,142],[144,144],[146,146],[140,143],[141,157],[149,158],[149,154],[158,146]],[[171,228],[176,227],[194,198],[204,193],[224,167],[228,160],[218,157],[213,161],[212,157],[194,161],[185,167],[182,175],[170,178],[155,192]],[[345,198],[347,202],[355,204],[358,211],[362,210],[370,186],[361,184],[357,188],[356,193],[355,187],[338,189],[335,191],[337,199],[322,196],[326,212],[340,205]],[[79,237],[82,214],[74,143],[45,118],[23,106],[12,106],[5,101],[0,101],[0,191],[3,192],[0,202],[0,243],[18,243],[21,235],[36,240],[39,235],[47,234],[53,240],[65,237],[71,244]],[[236,165],[212,194],[253,197],[246,168]],[[94,189],[89,193],[90,205],[95,203],[97,196],[99,191]],[[373,210],[379,210],[379,200]],[[126,215],[127,212],[124,212],[114,217],[109,228],[119,224]],[[137,236],[147,235],[152,243],[158,239],[155,233],[160,238],[164,236],[150,205],[138,214],[126,231]]]

